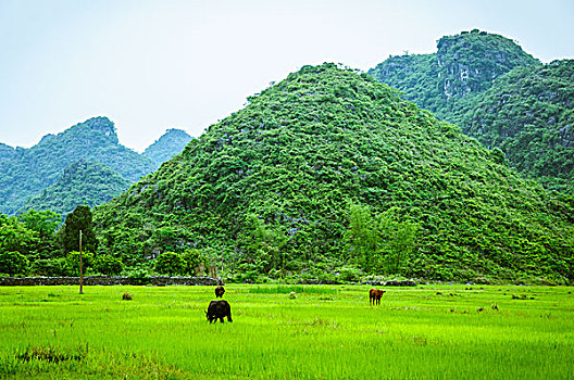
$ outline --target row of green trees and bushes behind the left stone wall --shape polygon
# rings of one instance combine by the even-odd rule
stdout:
[[[0,276],[79,276],[80,251],[86,275],[129,271],[121,254],[99,250],[90,207],[79,205],[63,224],[61,220],[52,211],[29,210],[10,217],[0,214]],[[192,275],[196,268],[205,267],[203,262],[198,250],[183,255],[166,252],[153,267],[162,275]]]

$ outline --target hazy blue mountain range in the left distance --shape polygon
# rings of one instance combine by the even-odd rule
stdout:
[[[101,204],[179,153],[190,139],[170,129],[139,154],[120,143],[109,118],[92,117],[29,149],[1,144],[0,213],[35,207],[66,214],[77,204]]]

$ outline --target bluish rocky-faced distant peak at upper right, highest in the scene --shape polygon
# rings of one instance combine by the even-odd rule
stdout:
[[[496,34],[462,31],[437,41],[437,52],[389,56],[369,71],[380,83],[398,88],[404,99],[432,111],[440,119],[457,123],[456,114],[465,98],[492,85],[516,66],[540,62],[514,41]]]

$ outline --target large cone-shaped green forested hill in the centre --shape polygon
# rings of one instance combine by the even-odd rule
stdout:
[[[369,75],[305,66],[249,102],[97,207],[100,246],[270,276],[572,279],[572,199]]]

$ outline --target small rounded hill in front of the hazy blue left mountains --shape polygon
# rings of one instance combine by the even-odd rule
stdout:
[[[43,189],[22,207],[22,211],[50,210],[67,215],[78,204],[90,207],[110,201],[125,191],[132,182],[97,162],[79,160],[64,169],[57,182]]]

